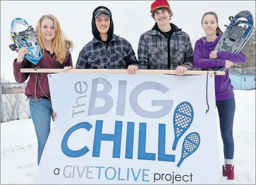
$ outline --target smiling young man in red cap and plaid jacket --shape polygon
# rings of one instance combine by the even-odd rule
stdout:
[[[175,69],[176,75],[193,70],[193,47],[187,33],[170,23],[173,16],[167,1],[151,5],[154,27],[140,36],[138,60],[140,69]]]

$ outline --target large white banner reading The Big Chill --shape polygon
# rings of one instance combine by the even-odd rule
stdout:
[[[58,73],[40,184],[216,184],[214,76]],[[207,102],[209,112],[206,113]]]

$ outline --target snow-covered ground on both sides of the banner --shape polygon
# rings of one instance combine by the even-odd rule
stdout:
[[[255,90],[236,90],[235,98],[237,107],[233,129],[235,180],[227,181],[221,176],[224,155],[219,133],[220,179],[224,184],[255,184]],[[2,122],[1,184],[31,184],[37,168],[37,139],[32,120]],[[206,166],[204,170],[207,168],[210,166]]]

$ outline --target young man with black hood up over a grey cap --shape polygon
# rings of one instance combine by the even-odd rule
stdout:
[[[113,34],[112,14],[107,7],[93,11],[93,40],[81,50],[76,69],[128,69],[132,74],[138,69],[138,60],[131,44]]]

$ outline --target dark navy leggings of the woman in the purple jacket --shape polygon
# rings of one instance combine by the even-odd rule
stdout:
[[[224,145],[224,157],[232,159],[234,156],[233,120],[236,110],[235,97],[228,100],[217,101],[219,113],[220,133]]]

